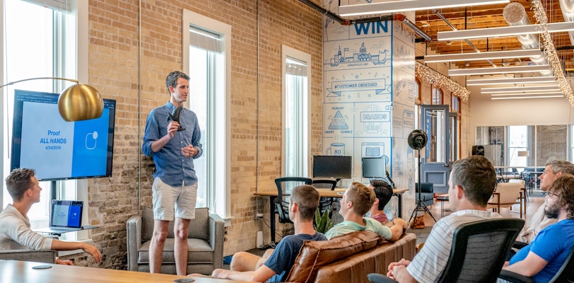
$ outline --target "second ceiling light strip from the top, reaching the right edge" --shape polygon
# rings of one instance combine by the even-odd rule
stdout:
[[[559,33],[570,30],[574,30],[574,25],[570,22],[548,24],[549,33]],[[436,34],[436,40],[469,40],[473,38],[530,35],[543,32],[544,27],[542,25],[516,25],[499,28],[475,28],[473,30],[441,31]]]

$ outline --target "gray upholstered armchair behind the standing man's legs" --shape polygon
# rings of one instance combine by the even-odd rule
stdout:
[[[224,221],[209,209],[195,209],[195,219],[189,224],[187,243],[187,274],[210,275],[223,266]],[[127,221],[127,268],[131,271],[149,272],[149,246],[153,233],[153,211],[144,207],[142,215],[131,216]],[[173,221],[163,247],[161,273],[175,274]]]

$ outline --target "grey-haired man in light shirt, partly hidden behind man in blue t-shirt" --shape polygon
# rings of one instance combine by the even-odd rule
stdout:
[[[552,183],[554,183],[554,180],[564,173],[574,175],[574,164],[566,160],[554,160],[546,163],[546,167],[544,168],[542,175],[539,177],[540,190],[548,192]],[[548,218],[544,213],[547,201],[548,200],[545,198],[544,204],[542,204],[538,210],[532,214],[529,226],[524,226],[520,232],[520,236],[518,237],[519,241],[530,243],[538,235],[540,230],[558,221],[557,219]]]

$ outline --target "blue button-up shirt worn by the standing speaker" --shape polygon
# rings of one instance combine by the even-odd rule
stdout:
[[[151,110],[146,121],[146,132],[144,133],[144,144],[141,150],[144,151],[146,156],[151,156],[153,162],[156,163],[156,173],[153,173],[153,178],[160,178],[163,183],[172,187],[181,186],[182,182],[185,185],[194,185],[197,183],[197,176],[195,175],[193,159],[199,158],[203,154],[201,149],[201,131],[199,123],[197,122],[197,115],[192,110],[183,109],[180,113],[180,125],[185,128],[185,131],[175,132],[174,137],[168,141],[162,149],[158,152],[151,150],[153,141],[161,139],[161,137],[168,134],[168,113],[173,113],[175,105],[165,103]],[[183,156],[182,148],[193,144],[197,149],[197,154],[193,158]]]

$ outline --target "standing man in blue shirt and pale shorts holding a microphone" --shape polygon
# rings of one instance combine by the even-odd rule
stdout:
[[[170,100],[151,110],[146,121],[142,150],[156,163],[153,173],[153,236],[149,248],[150,272],[159,273],[165,238],[175,218],[175,267],[187,273],[187,232],[195,218],[197,176],[193,159],[203,153],[197,115],[183,108],[189,93],[189,76],[172,71],[165,79]],[[175,209],[175,214],[174,214]]]

